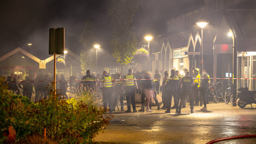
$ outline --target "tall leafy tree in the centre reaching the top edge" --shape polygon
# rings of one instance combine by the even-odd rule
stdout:
[[[111,26],[113,28],[113,56],[117,63],[123,65],[131,62],[136,51],[137,39],[132,25],[133,17],[139,10],[138,0],[112,0],[109,9]]]

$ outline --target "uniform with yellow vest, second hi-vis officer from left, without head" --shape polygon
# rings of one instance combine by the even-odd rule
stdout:
[[[135,104],[135,89],[134,89],[134,81],[136,79],[134,75],[127,74],[124,76],[124,79],[130,79],[125,81],[125,96],[127,102],[127,112],[131,112],[131,102],[132,102],[132,109],[133,112],[136,111],[136,104]]]

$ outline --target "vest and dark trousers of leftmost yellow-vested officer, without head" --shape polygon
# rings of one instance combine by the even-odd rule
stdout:
[[[102,88],[102,97],[103,97],[103,105],[104,108],[107,108],[107,100],[108,100],[108,107],[110,113],[112,112],[112,81],[113,79],[110,76],[104,76],[101,78],[101,81],[103,83]]]

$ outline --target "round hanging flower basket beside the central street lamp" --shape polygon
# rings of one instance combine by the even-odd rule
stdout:
[[[138,49],[132,58],[132,60],[140,65],[147,65],[148,63],[148,51],[144,48]]]

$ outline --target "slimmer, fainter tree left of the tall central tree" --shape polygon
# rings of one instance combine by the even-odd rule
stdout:
[[[84,49],[80,52],[80,62],[82,70],[95,67],[96,55],[91,51],[94,44],[94,26],[90,21],[84,23],[84,30],[81,33],[79,42],[83,44]]]

